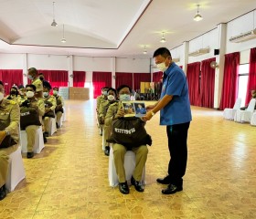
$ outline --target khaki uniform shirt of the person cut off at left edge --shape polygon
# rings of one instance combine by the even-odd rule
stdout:
[[[3,99],[0,104],[0,122],[10,132],[12,138],[18,141],[20,112],[16,101],[12,99]]]

